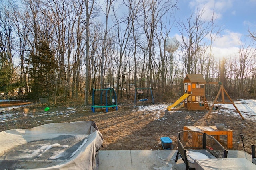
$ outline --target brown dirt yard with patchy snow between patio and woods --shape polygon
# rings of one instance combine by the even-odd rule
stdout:
[[[7,107],[3,104],[3,102],[0,103],[0,108]],[[158,105],[162,104],[155,104],[156,107]],[[228,109],[225,108],[211,113],[206,119],[207,110],[188,111],[182,108],[182,105],[172,111],[162,110],[157,113],[156,110],[141,111],[132,102],[119,104],[117,111],[109,109],[108,113],[103,109],[96,109],[93,113],[90,106],[81,104],[51,107],[47,112],[44,111],[45,107],[30,104],[2,113],[0,111],[0,115],[10,114],[4,120],[0,119],[0,131],[32,128],[46,123],[95,121],[104,138],[102,150],[162,149],[161,137],[170,137],[176,150],[178,147],[176,136],[179,131],[182,131],[183,126],[208,126],[224,123],[226,128],[233,130],[233,148],[228,150],[244,150],[240,134],[244,135],[246,152],[251,154],[251,144],[256,144],[255,119],[254,121],[243,120],[241,117],[228,115]],[[226,140],[226,135],[220,136],[220,143],[227,149]]]

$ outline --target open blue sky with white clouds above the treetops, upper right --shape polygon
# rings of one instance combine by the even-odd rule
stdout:
[[[179,0],[176,11],[180,20],[190,17],[196,8],[204,8],[204,17],[209,18],[213,9],[217,16],[216,25],[222,32],[214,43],[216,57],[229,57],[238,51],[240,42],[251,32],[256,31],[256,0]],[[173,28],[170,36],[179,40],[180,33]]]

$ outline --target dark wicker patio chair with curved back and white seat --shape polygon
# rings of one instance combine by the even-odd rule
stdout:
[[[196,159],[227,158],[228,150],[214,137],[198,131],[185,130],[177,135],[178,152],[175,162],[180,155],[186,164],[186,170],[195,168]]]

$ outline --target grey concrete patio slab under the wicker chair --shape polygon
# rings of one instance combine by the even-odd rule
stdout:
[[[177,150],[100,150],[99,170],[185,170]],[[159,158],[160,157],[160,158]],[[252,155],[242,150],[228,150],[228,158],[246,158]]]

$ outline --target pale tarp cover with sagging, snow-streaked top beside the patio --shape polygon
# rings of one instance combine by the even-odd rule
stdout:
[[[103,137],[94,121],[0,132],[0,170],[97,170]]]

